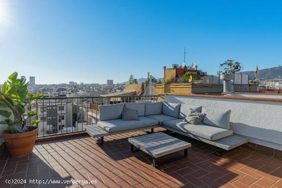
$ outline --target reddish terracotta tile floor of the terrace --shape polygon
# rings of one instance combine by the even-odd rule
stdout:
[[[149,155],[130,152],[127,138],[141,134],[145,133],[105,137],[103,146],[89,136],[45,141],[21,158],[4,151],[0,187],[282,187],[281,159],[247,147],[217,157],[211,145],[177,134],[172,135],[192,143],[188,157],[153,168]],[[24,179],[26,184],[7,184],[7,179]],[[30,182],[33,179],[60,182],[38,185]]]

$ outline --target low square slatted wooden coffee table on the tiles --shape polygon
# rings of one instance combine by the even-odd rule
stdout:
[[[152,156],[154,167],[178,160],[183,157],[187,157],[188,148],[191,147],[191,143],[185,142],[178,138],[174,138],[161,132],[128,138],[128,141],[131,144],[131,152],[137,151],[134,150],[134,147],[136,147],[139,150],[142,150],[143,152]],[[181,150],[184,150],[183,156],[174,157],[172,159],[157,163],[157,158]]]

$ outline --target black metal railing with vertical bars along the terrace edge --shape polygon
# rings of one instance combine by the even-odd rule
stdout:
[[[37,99],[29,103],[27,113],[36,110],[37,137],[55,136],[84,131],[84,125],[94,124],[99,119],[99,105],[120,102],[155,102],[157,95],[110,96],[110,97],[53,97]]]

